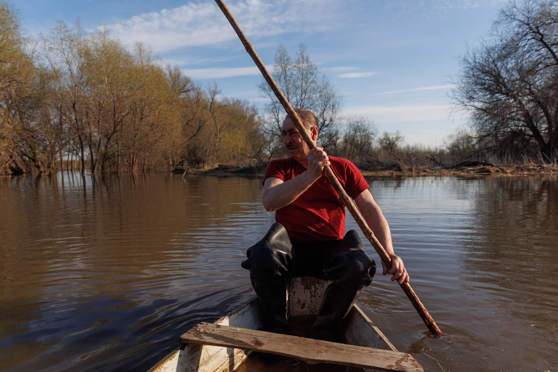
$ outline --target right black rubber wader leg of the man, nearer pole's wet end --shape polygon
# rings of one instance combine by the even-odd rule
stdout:
[[[333,280],[325,291],[318,318],[310,331],[313,339],[346,343],[343,320],[364,287],[372,282],[376,263],[364,252],[362,241],[350,230],[337,247],[326,254],[325,279]]]

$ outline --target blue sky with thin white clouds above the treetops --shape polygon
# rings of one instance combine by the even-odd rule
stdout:
[[[498,0],[225,0],[264,63],[277,46],[304,43],[344,97],[345,114],[364,115],[407,143],[436,145],[466,123],[451,113],[458,57],[486,36]],[[213,0],[16,0],[24,30],[48,32],[80,19],[126,44],[143,41],[201,84],[261,104],[259,71]]]

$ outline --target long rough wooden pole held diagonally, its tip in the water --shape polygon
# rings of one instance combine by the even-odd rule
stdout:
[[[263,78],[266,79],[267,84],[270,85],[271,89],[273,90],[273,93],[275,93],[275,95],[279,99],[279,102],[281,102],[281,105],[283,105],[283,108],[287,112],[288,117],[295,124],[295,127],[299,130],[302,138],[304,138],[304,141],[306,142],[308,147],[313,148],[314,146],[316,146],[312,142],[312,139],[310,138],[308,132],[306,132],[306,128],[302,124],[299,116],[296,114],[295,110],[291,107],[291,104],[288,103],[287,99],[285,98],[285,96],[277,86],[277,83],[275,83],[275,80],[273,80],[271,74],[267,71],[266,66],[264,66],[262,60],[259,59],[258,54],[254,50],[254,47],[252,46],[252,44],[250,44],[248,38],[246,37],[246,35],[244,35],[244,32],[240,30],[237,21],[234,20],[234,17],[232,14],[230,14],[230,11],[227,8],[227,6],[225,6],[222,0],[215,0],[215,2],[219,6],[219,8],[223,11],[223,14],[225,15],[225,17],[227,17],[227,20],[229,20],[230,25],[233,26],[234,31],[237,33],[238,37],[240,38],[240,41],[242,41],[244,48],[246,48],[246,51],[252,57],[252,59],[256,63],[256,66],[258,66],[258,69],[262,73]],[[372,230],[368,227],[368,224],[358,212],[357,207],[354,205],[349,195],[347,195],[347,192],[345,192],[343,186],[341,186],[341,183],[339,183],[339,180],[337,179],[337,177],[335,177],[331,168],[329,166],[324,167],[324,172],[326,176],[328,176],[329,181],[331,182],[331,185],[333,185],[335,191],[337,191],[337,194],[339,194],[341,200],[343,200],[343,203],[347,206],[347,209],[349,210],[350,214],[354,217],[355,221],[357,221],[357,224],[360,226],[360,229],[362,229],[364,236],[366,236],[366,238],[370,241],[372,247],[376,249],[376,252],[378,253],[379,257],[382,259],[382,261],[386,264],[387,268],[391,269],[391,258],[387,254],[386,250],[382,247],[382,244],[380,244],[378,239],[376,239],[376,236],[374,236]],[[410,284],[401,283],[399,285],[401,286],[401,288],[403,288],[403,292],[407,294],[407,297],[411,300],[413,306],[415,306],[416,311],[419,312],[419,315],[422,318],[422,321],[424,321],[424,323],[426,324],[426,327],[428,327],[428,329],[433,334],[436,335],[442,334],[442,331],[436,325],[434,318],[432,318],[430,313],[426,310],[426,307],[422,305],[419,296],[417,296],[415,291],[413,291]]]

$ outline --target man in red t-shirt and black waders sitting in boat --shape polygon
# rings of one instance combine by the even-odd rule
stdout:
[[[318,120],[309,110],[296,113],[314,143]],[[368,183],[354,164],[310,149],[288,117],[282,126],[283,143],[291,157],[273,160],[263,183],[263,206],[275,211],[277,221],[266,236],[247,251],[242,267],[250,279],[264,316],[264,330],[290,333],[285,316],[285,281],[297,276],[331,280],[321,303],[311,337],[340,341],[340,323],[364,287],[372,282],[376,264],[364,252],[357,231],[345,235],[345,206],[324,174],[331,166],[339,182],[392,259],[383,274],[408,282],[403,261],[393,252],[391,234],[382,211],[368,191]]]

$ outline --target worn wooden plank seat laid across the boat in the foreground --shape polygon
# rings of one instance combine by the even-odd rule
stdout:
[[[415,358],[403,352],[338,344],[215,323],[200,323],[180,336],[180,342],[268,352],[294,357],[311,364],[331,363],[382,371],[422,371]]]

